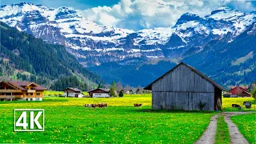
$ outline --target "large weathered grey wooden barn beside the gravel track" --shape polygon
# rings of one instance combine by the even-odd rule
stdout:
[[[218,110],[224,88],[181,62],[144,89],[152,90],[152,109]]]

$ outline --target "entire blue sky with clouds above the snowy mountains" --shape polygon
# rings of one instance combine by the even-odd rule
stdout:
[[[1,0],[1,5],[19,2],[67,6],[98,24],[132,30],[174,26],[186,12],[203,17],[223,5],[242,12],[256,10],[256,1],[248,0]]]

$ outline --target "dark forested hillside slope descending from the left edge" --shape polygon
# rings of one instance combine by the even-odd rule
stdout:
[[[0,22],[0,30],[2,76],[23,80],[34,78],[34,81],[44,85],[71,75],[92,83],[101,81],[96,74],[80,65],[64,46],[50,45],[3,22]]]

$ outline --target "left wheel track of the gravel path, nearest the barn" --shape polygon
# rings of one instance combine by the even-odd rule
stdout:
[[[202,134],[202,137],[195,142],[195,144],[213,144],[215,141],[215,134],[217,130],[217,118],[219,115],[214,115],[210,118],[210,124],[206,128],[206,131]]]

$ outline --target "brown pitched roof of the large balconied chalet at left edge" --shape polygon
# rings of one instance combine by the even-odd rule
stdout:
[[[34,82],[19,82],[19,81],[10,81],[10,82],[5,82],[8,83],[10,86],[15,86],[20,90],[27,90],[26,86],[34,85],[34,90],[47,90],[45,87],[40,86]]]

